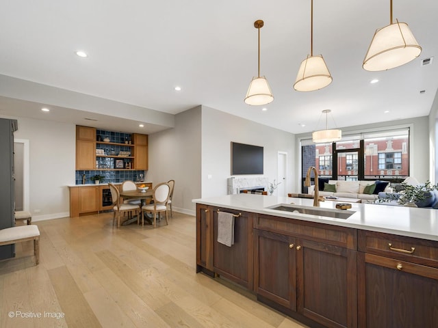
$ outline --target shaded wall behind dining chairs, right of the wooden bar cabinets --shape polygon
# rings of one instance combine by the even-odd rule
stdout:
[[[175,115],[175,128],[149,135],[146,181],[175,180],[172,209],[194,215],[201,197],[201,106]]]

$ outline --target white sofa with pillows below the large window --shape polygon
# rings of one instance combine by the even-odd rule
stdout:
[[[361,200],[362,203],[374,202],[378,195],[368,193],[363,193],[363,189],[368,184],[374,184],[375,181],[367,180],[367,181],[344,181],[344,180],[329,180],[329,184],[336,185],[336,192],[333,193],[331,191],[320,191],[320,196],[336,196],[342,198],[356,198]],[[387,193],[391,193],[392,189],[389,187],[389,184],[384,190]],[[315,186],[310,186],[307,189],[307,193],[314,195],[315,194]]]

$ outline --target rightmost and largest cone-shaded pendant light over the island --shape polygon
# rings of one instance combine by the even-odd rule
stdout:
[[[363,69],[376,72],[407,64],[422,52],[407,23],[392,23],[392,0],[389,1],[389,25],[377,29],[368,52],[363,59]]]

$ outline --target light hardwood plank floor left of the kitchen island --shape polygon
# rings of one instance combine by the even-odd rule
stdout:
[[[0,327],[305,327],[196,274],[195,218],[169,221],[117,229],[104,213],[34,222],[40,264],[30,241],[0,262]]]

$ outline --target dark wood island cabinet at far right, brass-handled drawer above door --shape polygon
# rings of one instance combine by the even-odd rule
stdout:
[[[359,328],[438,327],[438,243],[359,233]]]

